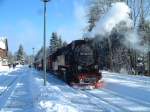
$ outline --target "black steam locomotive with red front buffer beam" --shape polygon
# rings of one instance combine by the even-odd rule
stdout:
[[[48,70],[73,87],[99,88],[102,74],[91,40],[75,40],[48,57]]]

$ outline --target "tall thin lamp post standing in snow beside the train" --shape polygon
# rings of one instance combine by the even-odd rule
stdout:
[[[50,0],[42,0],[44,3],[44,32],[43,32],[43,70],[44,70],[44,86],[46,86],[46,4]]]

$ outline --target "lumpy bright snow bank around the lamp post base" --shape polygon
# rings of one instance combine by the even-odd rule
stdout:
[[[34,74],[39,75],[37,77],[31,76],[34,81],[32,90],[36,112],[77,112],[76,108],[64,97],[62,91],[58,86],[66,86],[63,83],[53,82],[52,79],[47,86],[43,86],[43,79],[41,79],[41,74],[34,71]],[[37,86],[38,85],[38,86]],[[36,86],[36,87],[35,87]],[[36,93],[34,92],[36,91]]]

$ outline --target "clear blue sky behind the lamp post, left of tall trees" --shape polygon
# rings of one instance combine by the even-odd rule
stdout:
[[[9,50],[22,44],[28,54],[43,44],[43,4],[41,0],[0,0],[0,37],[8,38]],[[82,37],[86,27],[86,0],[52,0],[47,7],[47,45],[51,33],[58,32],[71,42]]]

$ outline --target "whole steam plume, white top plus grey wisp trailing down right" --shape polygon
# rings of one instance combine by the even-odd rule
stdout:
[[[141,44],[142,39],[138,32],[133,30],[133,20],[130,17],[131,9],[124,2],[116,2],[112,4],[110,10],[104,14],[95,24],[95,27],[91,32],[88,32],[86,37],[96,37],[96,40],[103,40],[109,38],[112,30],[117,28],[120,23],[123,23],[123,27],[128,29],[124,31],[124,40],[121,41],[127,48],[135,49],[139,52],[148,52],[147,44]]]

